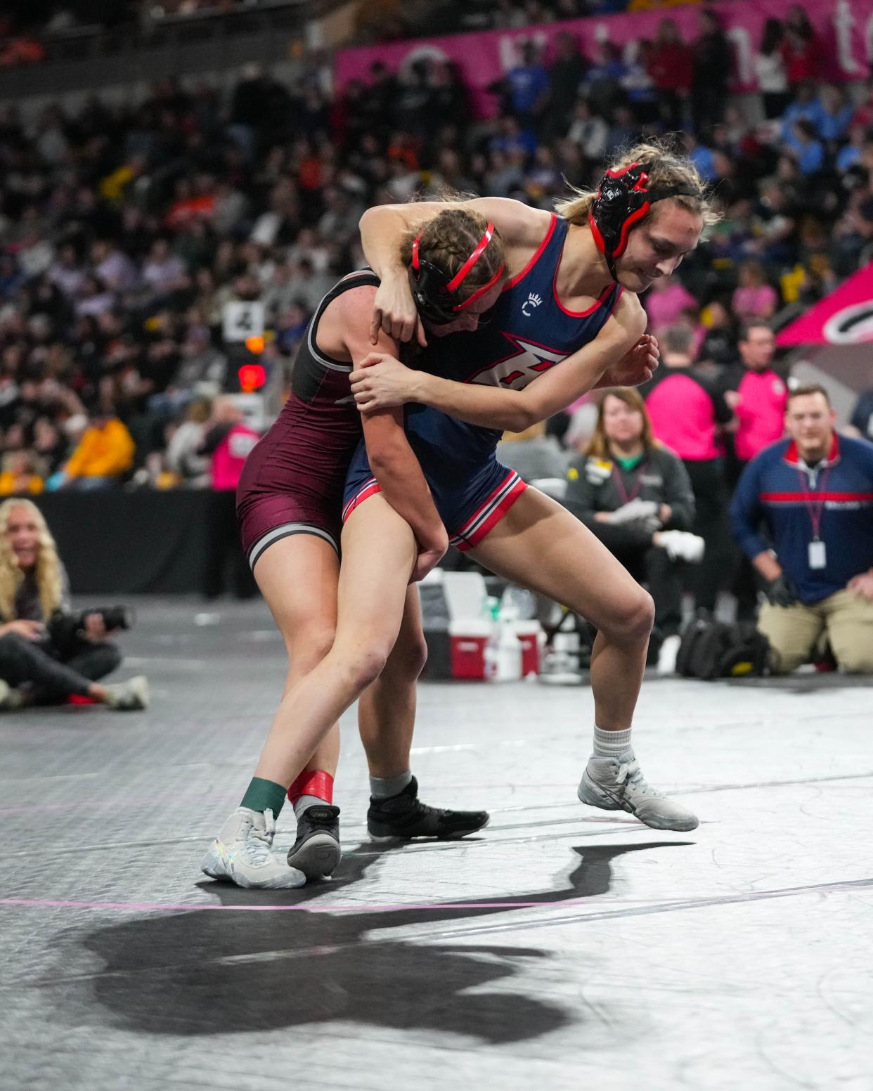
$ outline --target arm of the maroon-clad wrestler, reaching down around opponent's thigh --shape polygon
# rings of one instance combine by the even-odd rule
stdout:
[[[349,299],[344,309],[343,339],[357,365],[372,348],[367,333],[372,296],[368,297],[366,292],[348,295],[356,298]],[[384,334],[380,335],[380,345],[385,351],[397,351],[396,343]],[[363,440],[370,469],[379,481],[385,500],[409,524],[421,551],[438,553],[435,560],[439,560],[449,548],[449,538],[433,504],[428,482],[406,439],[403,409],[380,409],[364,415]]]

